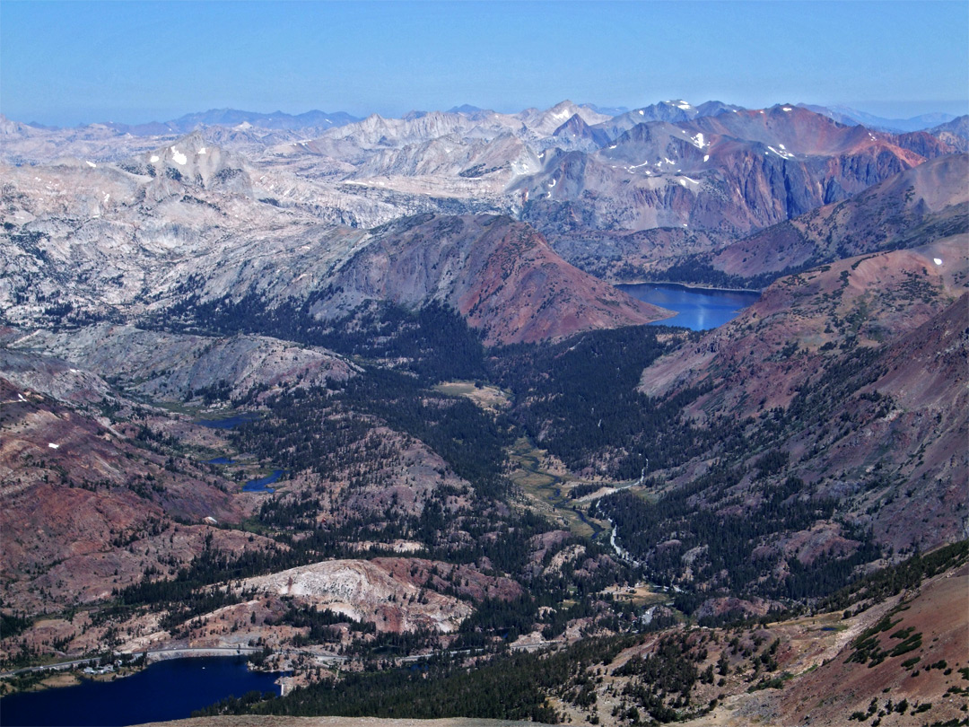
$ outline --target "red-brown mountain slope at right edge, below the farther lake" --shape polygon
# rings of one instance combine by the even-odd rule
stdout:
[[[646,368],[642,391],[708,379],[687,416],[774,432],[786,472],[839,499],[879,543],[965,537],[967,272],[956,236],[782,278],[728,326]]]

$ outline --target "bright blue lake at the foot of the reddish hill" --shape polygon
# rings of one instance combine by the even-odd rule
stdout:
[[[676,315],[654,326],[682,326],[694,331],[706,331],[723,326],[736,314],[761,297],[746,291],[686,288],[669,283],[639,283],[617,285],[616,288],[633,298],[675,310]]]

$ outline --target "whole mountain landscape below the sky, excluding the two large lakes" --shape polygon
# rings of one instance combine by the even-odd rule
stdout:
[[[965,723],[969,136],[847,111],[0,119],[0,689]]]

